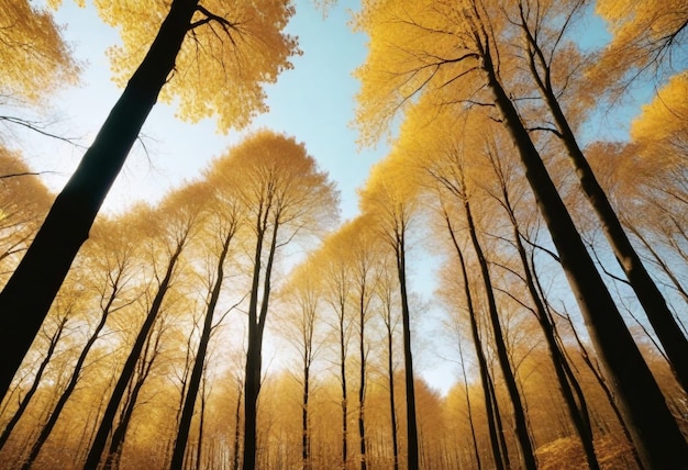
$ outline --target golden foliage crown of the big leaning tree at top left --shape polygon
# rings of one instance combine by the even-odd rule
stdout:
[[[190,122],[217,115],[218,130],[226,133],[267,111],[264,85],[291,68],[289,57],[300,53],[296,37],[282,32],[295,9],[282,0],[199,4],[160,98],[174,101],[178,115]],[[96,5],[103,21],[120,30],[122,45],[108,55],[114,80],[123,86],[146,54],[169,2],[97,0]]]

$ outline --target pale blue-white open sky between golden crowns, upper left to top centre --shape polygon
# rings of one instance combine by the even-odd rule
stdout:
[[[174,118],[174,107],[158,103],[143,128],[147,154],[136,145],[106,200],[104,211],[121,212],[138,200],[155,202],[185,179],[197,177],[211,158],[236,144],[242,135],[269,127],[306,143],[321,168],[336,181],[343,216],[355,215],[356,188],[386,150],[384,145],[359,150],[356,132],[349,128],[358,87],[351,74],[366,56],[366,37],[354,34],[347,25],[349,10],[358,2],[340,1],[326,16],[308,0],[296,4],[297,14],[288,32],[299,36],[303,55],[295,57],[295,68],[266,89],[270,111],[248,130],[225,136],[215,132],[212,120],[185,123]],[[65,36],[85,70],[81,85],[60,92],[53,102],[59,121],[54,131],[80,137],[79,142],[88,146],[121,92],[110,80],[106,57],[106,48],[119,41],[118,33],[100,21],[92,5],[79,9],[70,1],[56,13],[56,21],[65,25]],[[32,138],[22,149],[32,168],[54,171],[46,178],[54,191],[64,186],[84,152],[42,138]]]

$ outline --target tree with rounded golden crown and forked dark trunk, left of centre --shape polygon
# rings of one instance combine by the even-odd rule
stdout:
[[[253,230],[255,249],[248,299],[248,343],[244,393],[244,469],[256,466],[257,402],[262,348],[271,293],[275,258],[297,236],[328,226],[337,194],[303,144],[270,131],[246,137],[213,164],[234,187]]]

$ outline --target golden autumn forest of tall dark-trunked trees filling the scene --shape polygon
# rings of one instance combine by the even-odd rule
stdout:
[[[352,126],[389,152],[348,219],[249,127],[303,2],[76,3],[121,96],[55,193],[14,130],[68,141],[23,111],[82,64],[60,0],[0,0],[0,468],[688,469],[688,3],[356,3]],[[102,211],[158,102],[249,131]]]

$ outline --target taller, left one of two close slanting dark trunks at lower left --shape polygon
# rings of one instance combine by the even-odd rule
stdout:
[[[108,402],[108,406],[106,407],[106,412],[103,417],[101,418],[100,426],[98,427],[98,432],[96,433],[96,437],[91,445],[91,449],[88,452],[86,458],[86,463],[84,465],[84,470],[97,469],[100,463],[100,457],[102,456],[103,450],[106,449],[106,445],[108,443],[108,436],[110,435],[110,430],[112,429],[112,425],[114,422],[114,416],[116,415],[118,407],[122,401],[122,396],[126,391],[126,387],[136,370],[136,362],[138,361],[138,357],[141,356],[141,351],[146,343],[146,338],[155,324],[157,318],[157,314],[160,311],[163,305],[163,300],[165,299],[165,294],[169,288],[169,283],[171,281],[173,272],[175,270],[175,266],[177,265],[177,260],[181,255],[186,243],[186,237],[177,243],[177,247],[173,256],[169,258],[167,264],[167,270],[165,272],[165,277],[160,282],[157,293],[155,294],[155,299],[153,299],[153,303],[151,304],[151,310],[148,311],[148,315],[146,316],[145,322],[141,326],[141,331],[136,336],[136,340],[134,342],[134,346],[132,347],[129,357],[126,358],[126,362],[124,362],[124,367],[122,368],[122,372],[120,378],[118,379],[116,384],[114,385],[114,390],[112,391],[112,395],[110,396],[110,401]]]

